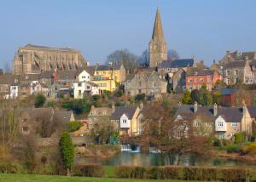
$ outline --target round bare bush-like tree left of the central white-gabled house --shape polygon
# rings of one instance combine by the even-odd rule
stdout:
[[[114,123],[108,117],[97,121],[91,130],[91,136],[97,144],[106,144],[115,135]]]

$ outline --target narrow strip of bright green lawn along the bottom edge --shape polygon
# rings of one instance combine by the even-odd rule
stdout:
[[[86,177],[66,177],[66,176],[47,176],[47,175],[36,175],[36,174],[0,174],[0,181],[11,181],[11,182],[181,182],[181,180],[149,180],[149,179],[113,179],[113,178],[86,178]]]

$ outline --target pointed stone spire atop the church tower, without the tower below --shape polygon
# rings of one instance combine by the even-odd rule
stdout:
[[[162,28],[162,22],[160,18],[160,10],[157,8],[155,20],[154,20],[154,31],[152,34],[152,40],[154,42],[165,42],[164,31]]]

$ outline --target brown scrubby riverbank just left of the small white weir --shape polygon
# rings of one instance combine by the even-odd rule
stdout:
[[[88,147],[78,146],[75,154],[84,157],[109,158],[120,152],[118,145],[89,145]]]

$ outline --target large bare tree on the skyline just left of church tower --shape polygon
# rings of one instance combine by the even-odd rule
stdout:
[[[130,73],[137,67],[137,55],[132,54],[128,49],[118,49],[107,57],[107,64],[120,64],[123,62],[126,71]]]

